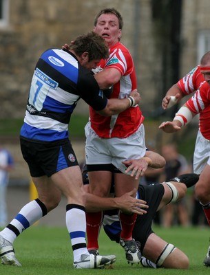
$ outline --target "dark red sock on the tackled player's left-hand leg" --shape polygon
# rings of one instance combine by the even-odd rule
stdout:
[[[98,250],[98,235],[102,221],[103,212],[86,213],[88,250]]]

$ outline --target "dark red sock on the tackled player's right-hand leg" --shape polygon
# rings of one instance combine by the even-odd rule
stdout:
[[[134,229],[136,217],[137,217],[137,214],[124,214],[121,211],[119,212],[119,219],[120,219],[121,228],[122,228],[120,237],[123,240],[132,239],[132,232]]]

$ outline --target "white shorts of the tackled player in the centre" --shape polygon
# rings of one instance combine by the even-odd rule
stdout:
[[[113,164],[122,173],[125,173],[126,166],[122,162],[144,157],[146,152],[143,124],[129,137],[101,138],[91,128],[90,122],[87,122],[85,135],[86,164]]]

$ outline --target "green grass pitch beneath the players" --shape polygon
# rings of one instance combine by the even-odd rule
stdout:
[[[109,241],[101,232],[99,243],[101,254],[116,254],[113,270],[74,270],[72,267],[72,248],[66,228],[33,226],[19,236],[14,243],[17,259],[22,267],[0,265],[2,275],[67,275],[67,274],[112,274],[112,275],[173,275],[209,274],[202,265],[209,245],[209,228],[155,228],[162,238],[173,243],[189,256],[189,270],[152,270],[140,265],[128,265],[120,245]]]

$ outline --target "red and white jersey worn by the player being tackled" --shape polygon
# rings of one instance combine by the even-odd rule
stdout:
[[[111,98],[126,98],[133,89],[136,89],[133,58],[120,42],[109,48],[109,58],[101,60],[98,67],[102,69],[116,68],[121,74],[119,82],[113,87]],[[99,137],[128,137],[138,129],[143,120],[143,114],[138,106],[110,117],[99,115],[90,107],[91,126]]]

